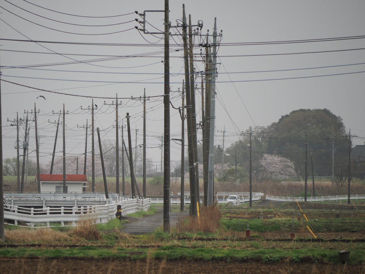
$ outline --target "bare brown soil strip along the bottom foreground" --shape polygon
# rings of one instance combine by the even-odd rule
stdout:
[[[364,266],[314,263],[0,258],[3,273],[364,273]]]

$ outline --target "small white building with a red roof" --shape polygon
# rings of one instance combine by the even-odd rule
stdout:
[[[35,175],[37,179],[37,174]],[[42,193],[63,193],[63,174],[40,174]],[[82,193],[85,191],[87,178],[84,174],[66,174],[66,193]]]

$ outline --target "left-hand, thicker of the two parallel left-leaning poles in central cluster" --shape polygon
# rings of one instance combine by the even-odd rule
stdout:
[[[192,127],[192,109],[190,95],[190,77],[189,77],[189,60],[188,60],[188,37],[187,22],[185,15],[185,5],[183,4],[183,41],[184,41],[184,66],[185,66],[185,90],[187,105],[187,128],[188,128],[188,159],[189,159],[189,181],[190,181],[190,214],[197,217],[197,193],[196,193],[196,170],[194,165],[194,145],[193,145],[193,129]]]

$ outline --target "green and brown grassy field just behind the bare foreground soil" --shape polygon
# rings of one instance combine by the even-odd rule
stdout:
[[[305,204],[303,208],[306,208]],[[293,212],[287,203],[277,206],[277,210],[284,216],[291,216]],[[303,222],[303,217],[301,220],[297,218],[293,220],[289,217],[279,218],[279,220],[276,217],[268,219],[270,210],[267,210],[266,218],[260,220],[257,216],[261,211],[266,212],[263,208],[249,209],[246,205],[217,206],[206,212],[202,210],[200,222],[189,218],[180,220],[178,225],[172,228],[171,234],[157,229],[148,235],[133,236],[119,232],[119,221],[112,220],[108,224],[96,227],[100,238],[93,240],[87,239],[85,236],[88,234],[87,231],[84,232],[85,234],[75,234],[72,230],[59,232],[52,229],[43,230],[50,233],[47,237],[43,236],[44,238],[42,236],[35,238],[31,235],[22,238],[18,234],[18,237],[10,240],[8,237],[10,232],[7,230],[5,231],[7,243],[37,244],[39,247],[5,248],[6,244],[2,244],[0,256],[327,263],[338,262],[338,252],[349,250],[350,263],[363,264],[365,261],[363,236],[365,220],[361,217],[361,214],[364,214],[363,211],[353,210],[354,216],[358,217],[327,218],[324,216],[315,221],[311,218],[311,214],[316,210],[311,210],[307,213],[310,220],[307,223]],[[348,208],[344,207],[343,212],[346,210]],[[251,231],[250,239],[246,238],[245,233],[247,223]],[[315,234],[320,235],[318,239],[311,237],[306,229],[307,224]],[[207,227],[214,227],[214,229],[203,232]],[[356,230],[357,234],[351,233],[351,229]],[[41,230],[28,230],[45,235]],[[103,232],[105,230],[112,230],[112,232],[105,233]],[[289,237],[292,231],[297,235],[295,239]],[[339,234],[327,235],[328,231],[342,233],[340,234],[342,239],[334,239],[333,235]],[[346,231],[349,233],[345,233]],[[54,233],[54,236],[51,233]],[[361,239],[359,235],[362,235]],[[62,246],[68,246],[68,248],[62,248]]]

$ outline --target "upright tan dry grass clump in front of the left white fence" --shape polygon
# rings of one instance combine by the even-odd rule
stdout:
[[[69,235],[82,237],[86,240],[100,240],[102,238],[97,230],[96,220],[87,215],[80,217],[76,227],[69,232]]]

